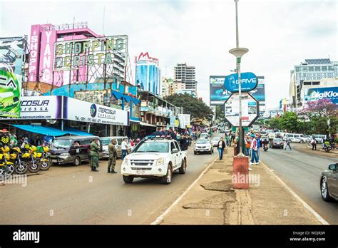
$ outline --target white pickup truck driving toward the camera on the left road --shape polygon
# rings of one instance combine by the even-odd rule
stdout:
[[[185,174],[187,153],[180,150],[176,140],[150,138],[141,141],[132,153],[127,155],[121,165],[121,174],[126,183],[135,177],[160,178],[163,184],[170,184],[175,170]]]

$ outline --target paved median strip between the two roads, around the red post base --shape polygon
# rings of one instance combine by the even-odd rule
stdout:
[[[233,190],[232,155],[225,150],[156,224],[322,224],[262,162],[249,190]]]

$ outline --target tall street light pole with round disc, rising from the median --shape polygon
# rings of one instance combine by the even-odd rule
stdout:
[[[243,149],[243,137],[242,137],[242,80],[240,78],[240,61],[242,56],[249,51],[247,48],[240,48],[240,39],[238,35],[238,14],[237,14],[237,2],[238,0],[235,0],[236,4],[236,48],[232,48],[229,53],[236,56],[236,71],[238,76],[238,94],[240,98],[240,154],[238,154],[239,157],[244,157],[245,155],[242,153]]]

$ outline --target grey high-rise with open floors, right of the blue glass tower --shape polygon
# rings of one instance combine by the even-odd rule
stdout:
[[[175,77],[174,81],[176,83],[183,83],[183,86],[180,87],[180,90],[191,90],[193,93],[197,95],[197,81],[195,80],[195,66],[187,66],[187,63],[178,63],[174,68]]]

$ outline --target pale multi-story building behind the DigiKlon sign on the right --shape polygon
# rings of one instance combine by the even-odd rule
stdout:
[[[331,61],[329,58],[305,59],[305,62],[291,70],[290,107],[294,110],[301,107],[304,94],[310,88],[337,87],[337,79],[337,61]]]

